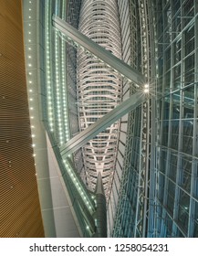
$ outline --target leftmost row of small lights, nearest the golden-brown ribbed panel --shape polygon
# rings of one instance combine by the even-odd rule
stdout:
[[[32,18],[32,1],[29,1],[29,8],[28,8],[28,19]],[[36,144],[34,143],[34,138],[36,137],[35,134],[35,125],[34,125],[34,98],[33,98],[33,81],[32,81],[32,39],[31,39],[31,35],[32,35],[32,24],[30,22],[27,23],[28,24],[28,37],[27,37],[27,74],[28,74],[28,78],[29,80],[27,80],[28,82],[28,95],[29,95],[29,110],[30,110],[30,122],[31,122],[31,131],[32,131],[32,138],[33,138],[33,144],[32,147],[34,148],[35,151],[35,146]],[[36,154],[34,153],[33,156],[35,157]],[[36,165],[36,164],[35,164]]]

